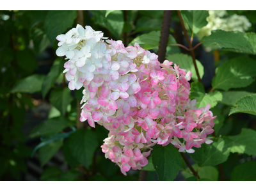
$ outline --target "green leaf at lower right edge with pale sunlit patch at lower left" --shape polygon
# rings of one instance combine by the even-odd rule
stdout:
[[[256,131],[243,128],[241,134],[227,136],[226,143],[230,152],[256,156]]]

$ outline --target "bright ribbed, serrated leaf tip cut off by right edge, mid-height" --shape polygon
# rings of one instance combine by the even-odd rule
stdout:
[[[228,115],[233,113],[248,113],[256,115],[256,95],[244,96],[237,100],[236,105],[230,109]]]

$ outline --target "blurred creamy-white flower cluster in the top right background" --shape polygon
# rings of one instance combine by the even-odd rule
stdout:
[[[221,29],[223,31],[241,31],[245,32],[252,26],[249,20],[244,15],[231,15],[227,16],[226,11],[209,11],[207,17],[208,24],[200,29],[197,36],[201,39],[203,36],[211,35],[211,31]]]

